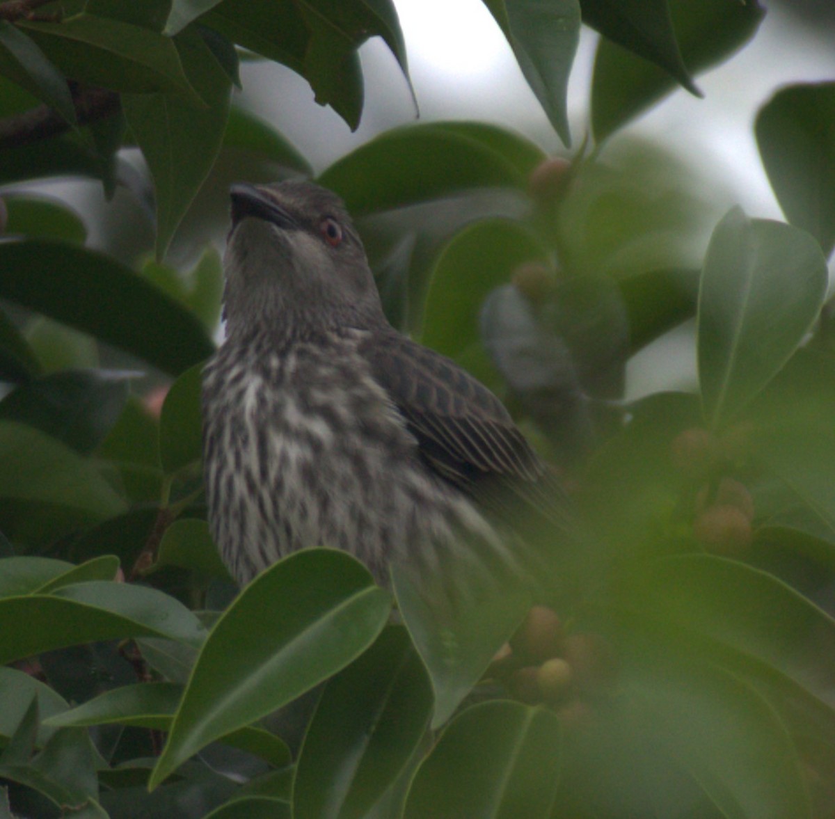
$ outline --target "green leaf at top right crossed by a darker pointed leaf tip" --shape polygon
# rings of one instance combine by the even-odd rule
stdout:
[[[724,62],[757,32],[764,10],[757,0],[671,0],[676,38],[691,74]],[[600,39],[591,87],[591,122],[602,142],[676,87],[671,74]]]

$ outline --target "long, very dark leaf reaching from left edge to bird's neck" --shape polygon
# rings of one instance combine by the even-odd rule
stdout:
[[[0,269],[0,297],[65,321],[164,372],[179,375],[214,350],[194,315],[94,250],[53,240],[0,242]]]

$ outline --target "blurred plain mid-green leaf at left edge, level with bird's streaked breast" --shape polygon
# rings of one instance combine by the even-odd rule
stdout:
[[[91,521],[124,511],[92,463],[31,427],[0,422],[0,463],[0,498],[52,503]]]

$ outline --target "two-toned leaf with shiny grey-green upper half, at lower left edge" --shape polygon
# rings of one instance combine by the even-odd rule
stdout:
[[[19,624],[0,635],[0,663],[124,637],[167,637],[199,645],[205,634],[195,615],[174,598],[101,580],[64,586],[52,594],[0,599],[0,618]]]

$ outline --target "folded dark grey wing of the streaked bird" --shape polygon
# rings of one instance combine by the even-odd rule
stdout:
[[[372,336],[360,351],[440,476],[485,502],[506,505],[510,495],[562,517],[554,473],[487,387],[394,331]]]

